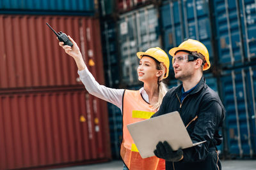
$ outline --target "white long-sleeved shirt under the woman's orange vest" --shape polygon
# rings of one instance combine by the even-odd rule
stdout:
[[[122,111],[122,99],[124,89],[112,89],[104,85],[100,85],[92,73],[85,67],[81,71],[77,71],[80,80],[83,82],[85,89],[93,96],[99,97],[104,101],[115,104]],[[141,96],[148,103],[148,94],[143,87],[140,89]]]

